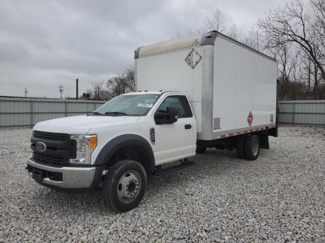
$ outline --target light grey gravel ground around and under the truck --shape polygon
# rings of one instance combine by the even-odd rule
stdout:
[[[325,242],[325,129],[281,127],[256,161],[209,149],[119,214],[24,170],[30,129],[0,131],[0,242]]]

